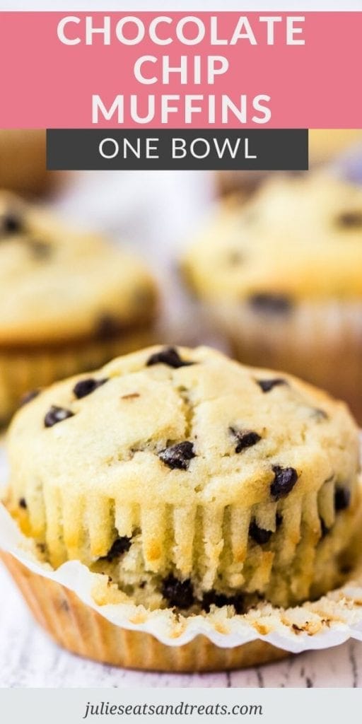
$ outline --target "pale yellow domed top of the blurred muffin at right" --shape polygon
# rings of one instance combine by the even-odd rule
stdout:
[[[182,267],[197,295],[290,308],[361,298],[362,188],[327,174],[277,175],[214,211]]]

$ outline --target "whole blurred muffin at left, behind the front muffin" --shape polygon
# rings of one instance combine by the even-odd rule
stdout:
[[[0,193],[1,424],[29,390],[148,344],[155,317],[142,261]]]

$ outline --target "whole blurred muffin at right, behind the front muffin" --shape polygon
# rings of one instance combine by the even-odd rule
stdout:
[[[316,172],[219,203],[182,262],[235,355],[348,400],[362,421],[362,188]]]

